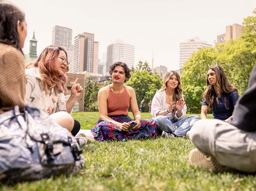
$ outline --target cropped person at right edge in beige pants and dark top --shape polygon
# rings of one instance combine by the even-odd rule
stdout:
[[[256,63],[229,123],[203,119],[192,125],[189,138],[197,148],[190,151],[190,164],[213,171],[256,172],[255,113]]]

